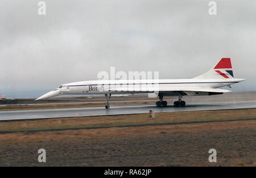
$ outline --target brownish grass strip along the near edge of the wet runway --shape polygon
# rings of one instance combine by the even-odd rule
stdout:
[[[28,130],[54,130],[71,128],[93,128],[125,125],[154,125],[163,123],[247,120],[256,118],[256,109],[236,109],[222,111],[187,111],[149,114],[51,118],[33,121],[1,122],[0,132],[24,132]]]

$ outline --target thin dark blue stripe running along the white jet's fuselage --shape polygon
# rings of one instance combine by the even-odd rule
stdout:
[[[81,87],[81,86],[99,86],[99,85],[123,85],[123,84],[195,84],[195,83],[238,83],[238,82],[181,82],[181,83],[102,83],[102,84],[80,84],[69,85],[68,87]]]

